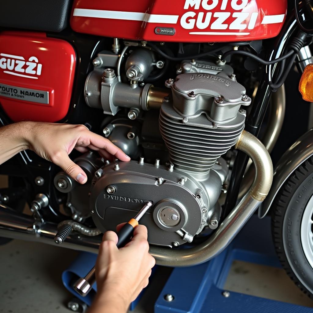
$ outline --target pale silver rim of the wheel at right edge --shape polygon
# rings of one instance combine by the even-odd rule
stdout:
[[[300,239],[303,253],[313,269],[313,196],[306,204],[301,221]]]

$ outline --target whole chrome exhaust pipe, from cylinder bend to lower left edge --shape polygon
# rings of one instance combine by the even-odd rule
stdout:
[[[256,175],[249,191],[233,208],[217,231],[205,242],[191,249],[169,249],[151,246],[156,264],[164,266],[192,266],[206,262],[225,249],[267,196],[273,180],[273,165],[264,145],[250,133],[243,131],[235,146],[252,159]],[[57,224],[36,225],[34,219],[0,205],[0,237],[55,244]],[[101,238],[71,233],[61,245],[65,248],[97,253]]]

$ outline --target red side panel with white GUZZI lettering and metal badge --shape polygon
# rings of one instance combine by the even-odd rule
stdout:
[[[13,121],[55,122],[69,110],[75,52],[43,33],[0,33],[0,104]]]

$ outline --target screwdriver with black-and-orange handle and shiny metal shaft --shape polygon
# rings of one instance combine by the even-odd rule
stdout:
[[[147,201],[145,205],[141,208],[141,210],[137,213],[134,218],[131,218],[117,233],[118,241],[117,248],[124,247],[129,240],[131,239],[135,227],[138,225],[138,221],[143,217],[143,215],[147,212],[149,208],[151,208],[152,202]],[[95,283],[95,267],[93,267],[90,272],[83,278],[79,278],[73,288],[76,292],[78,292],[81,296],[85,297],[92,288],[92,285]]]

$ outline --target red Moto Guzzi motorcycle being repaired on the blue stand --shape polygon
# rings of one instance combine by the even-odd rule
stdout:
[[[131,161],[74,151],[88,176],[80,185],[20,152],[0,166],[3,241],[96,253],[101,233],[149,201],[141,223],[156,263],[191,266],[270,210],[283,267],[313,295],[313,129],[274,171],[269,155],[295,64],[313,102],[310,0],[15,4],[0,12],[1,124],[83,124]]]

